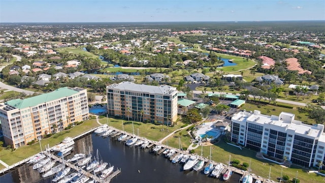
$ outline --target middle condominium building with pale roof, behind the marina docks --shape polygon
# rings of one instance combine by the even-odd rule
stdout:
[[[124,81],[106,87],[108,114],[138,121],[172,125],[177,119],[175,87]]]

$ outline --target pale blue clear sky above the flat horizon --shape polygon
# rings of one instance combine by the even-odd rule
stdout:
[[[1,0],[0,22],[325,20],[324,0]]]

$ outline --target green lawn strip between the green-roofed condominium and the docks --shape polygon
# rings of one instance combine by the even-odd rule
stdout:
[[[91,128],[94,128],[96,126],[99,126],[96,123],[95,119],[90,119],[85,121],[82,125],[77,125],[73,127],[72,129],[68,131],[62,132],[63,135],[60,135],[61,133],[59,132],[58,134],[53,135],[50,138],[43,139],[41,140],[42,144],[42,149],[45,149],[45,145],[49,144],[50,147],[61,142],[64,138],[66,137],[75,137],[85,131],[88,131]],[[68,133],[65,133],[68,132]],[[53,138],[57,136],[57,138]],[[23,147],[20,147],[16,149],[15,151],[7,150],[7,149],[2,149],[0,151],[0,157],[1,160],[7,163],[8,165],[12,165],[14,163],[17,163],[21,160],[24,160],[32,155],[35,155],[41,151],[40,144],[35,143],[33,145],[25,145]]]

